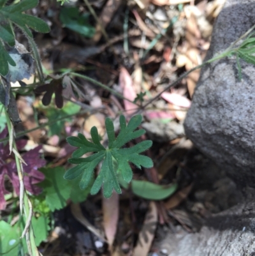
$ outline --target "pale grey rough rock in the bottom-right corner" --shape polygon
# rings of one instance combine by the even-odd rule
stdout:
[[[168,256],[255,256],[255,204],[238,204],[212,216],[198,233],[180,228],[160,249]]]

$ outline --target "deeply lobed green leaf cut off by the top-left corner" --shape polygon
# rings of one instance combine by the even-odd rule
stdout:
[[[24,11],[34,8],[38,4],[38,0],[23,0],[17,4],[5,6],[7,0],[0,0],[0,74],[8,73],[8,63],[15,66],[15,61],[5,49],[4,43],[10,46],[15,45],[15,34],[12,25],[19,27],[24,34],[33,38],[30,29],[34,29],[40,33],[48,33],[50,28],[41,19],[27,15]]]

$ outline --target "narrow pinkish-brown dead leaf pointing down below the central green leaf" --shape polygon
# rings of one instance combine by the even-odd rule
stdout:
[[[108,240],[110,251],[112,251],[113,241],[119,221],[119,194],[112,193],[112,197],[106,199],[103,197],[103,226],[105,236]]]

